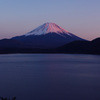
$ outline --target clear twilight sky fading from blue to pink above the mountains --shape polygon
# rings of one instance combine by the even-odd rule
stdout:
[[[0,0],[0,39],[46,22],[84,39],[100,37],[100,0]]]

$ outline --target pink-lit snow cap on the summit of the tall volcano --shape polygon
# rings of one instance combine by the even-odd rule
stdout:
[[[66,33],[66,34],[70,35],[70,33],[68,31],[64,30],[63,28],[56,25],[55,23],[45,23],[45,24],[37,27],[33,31],[26,33],[25,36],[43,35],[43,34],[47,34],[47,33],[57,33],[57,34]]]

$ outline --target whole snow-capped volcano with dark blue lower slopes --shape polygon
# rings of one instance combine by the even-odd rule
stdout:
[[[55,23],[45,23],[24,35],[11,39],[17,40],[29,48],[41,49],[57,48],[75,40],[85,41]]]

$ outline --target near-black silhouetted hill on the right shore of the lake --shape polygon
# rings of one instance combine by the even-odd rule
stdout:
[[[59,53],[100,54],[100,38],[92,41],[74,41],[56,50]]]

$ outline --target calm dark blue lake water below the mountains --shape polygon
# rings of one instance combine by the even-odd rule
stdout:
[[[100,56],[0,55],[0,96],[17,100],[100,100]]]

